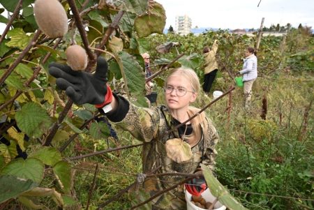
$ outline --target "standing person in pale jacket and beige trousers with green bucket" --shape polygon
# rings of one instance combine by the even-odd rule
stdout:
[[[244,82],[244,96],[246,97],[246,107],[249,105],[252,97],[252,86],[257,78],[257,57],[253,47],[246,49],[246,58],[242,70],[239,71]]]

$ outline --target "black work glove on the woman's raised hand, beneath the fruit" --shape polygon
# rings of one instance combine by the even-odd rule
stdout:
[[[50,63],[49,65],[50,75],[57,78],[57,87],[65,90],[66,95],[77,105],[84,103],[99,105],[104,103],[108,91],[106,84],[107,70],[107,61],[103,57],[98,57],[94,74],[75,71],[70,66],[60,63]]]

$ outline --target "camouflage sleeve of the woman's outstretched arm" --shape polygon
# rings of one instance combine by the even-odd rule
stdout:
[[[129,110],[126,117],[115,122],[119,128],[127,130],[137,140],[150,142],[158,133],[160,114],[158,107],[143,108],[129,103]]]

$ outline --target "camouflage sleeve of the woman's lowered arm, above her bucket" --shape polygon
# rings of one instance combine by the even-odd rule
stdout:
[[[206,141],[205,143],[206,151],[204,155],[205,158],[204,160],[202,160],[202,164],[207,165],[211,170],[213,170],[216,164],[215,162],[215,158],[217,156],[216,144],[219,140],[219,136],[211,120],[207,119],[207,122],[208,122],[207,135],[204,135]]]

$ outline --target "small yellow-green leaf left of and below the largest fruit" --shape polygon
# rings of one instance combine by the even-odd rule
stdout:
[[[20,50],[23,50],[31,40],[31,36],[27,36],[21,28],[8,31],[7,36],[10,37],[10,41],[6,45],[8,47],[17,47]]]

